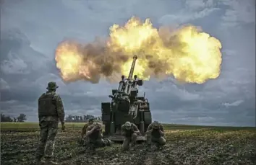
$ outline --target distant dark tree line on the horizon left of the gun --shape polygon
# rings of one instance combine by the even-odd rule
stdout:
[[[89,119],[101,121],[101,117],[93,115],[68,115],[65,119],[65,122],[88,122]],[[9,115],[4,115],[1,113],[1,122],[25,122],[26,120],[26,115],[23,113],[20,114],[18,117],[10,117]]]

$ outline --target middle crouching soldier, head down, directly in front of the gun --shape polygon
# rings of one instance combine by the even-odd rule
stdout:
[[[130,147],[133,148],[136,144],[137,135],[140,133],[140,130],[137,126],[131,122],[125,122],[124,125],[121,125],[121,135],[124,136],[124,142],[122,145],[122,149],[128,150],[129,144]]]

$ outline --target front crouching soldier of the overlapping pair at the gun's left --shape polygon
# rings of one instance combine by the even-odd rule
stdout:
[[[101,125],[95,123],[89,125],[86,130],[86,135],[84,138],[84,146],[90,147],[90,149],[95,150],[97,147],[110,146],[110,141],[103,140]]]

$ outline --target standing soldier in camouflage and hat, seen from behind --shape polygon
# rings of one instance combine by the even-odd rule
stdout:
[[[38,119],[40,126],[40,142],[36,151],[37,164],[42,163],[43,156],[46,159],[46,164],[57,164],[51,161],[54,153],[55,137],[57,135],[59,120],[62,130],[64,125],[64,107],[59,94],[56,94],[56,89],[59,86],[56,82],[48,83],[48,91],[42,94],[38,99]],[[43,162],[44,163],[44,162]]]

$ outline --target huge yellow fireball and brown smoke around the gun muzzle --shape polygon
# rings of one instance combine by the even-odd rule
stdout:
[[[202,84],[221,71],[221,43],[198,27],[156,29],[146,19],[132,17],[124,27],[114,24],[109,38],[82,45],[64,41],[56,48],[56,66],[64,81],[84,79],[98,83],[101,77],[128,76],[132,56],[137,55],[139,78],[173,75],[179,81]]]

